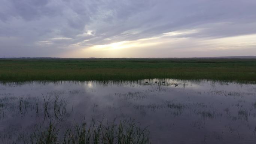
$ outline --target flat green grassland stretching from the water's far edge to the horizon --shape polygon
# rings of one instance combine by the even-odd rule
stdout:
[[[256,59],[0,59],[0,81],[139,80],[256,81]]]

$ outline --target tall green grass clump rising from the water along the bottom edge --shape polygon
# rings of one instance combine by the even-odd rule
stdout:
[[[26,144],[149,144],[149,131],[141,129],[134,120],[120,120],[119,124],[92,118],[88,126],[85,121],[75,123],[61,135],[58,124],[41,125],[31,135],[21,135],[20,143]],[[19,142],[17,141],[17,144]]]

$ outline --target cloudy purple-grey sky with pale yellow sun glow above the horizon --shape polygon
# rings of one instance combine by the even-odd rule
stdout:
[[[0,0],[0,57],[256,55],[256,0]]]

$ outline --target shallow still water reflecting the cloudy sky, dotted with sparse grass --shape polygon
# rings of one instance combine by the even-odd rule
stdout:
[[[152,144],[255,144],[256,85],[173,79],[0,84],[0,143],[35,124],[55,120],[65,127],[92,116],[135,118],[149,126]]]

